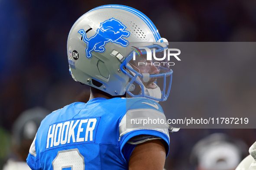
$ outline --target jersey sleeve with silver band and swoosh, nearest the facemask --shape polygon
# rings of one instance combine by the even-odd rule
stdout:
[[[145,98],[126,104],[126,114],[119,124],[120,152],[123,158],[128,162],[137,144],[154,139],[162,139],[167,157],[169,131],[162,107]]]

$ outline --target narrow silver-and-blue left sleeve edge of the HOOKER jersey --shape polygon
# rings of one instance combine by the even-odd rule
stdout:
[[[29,148],[29,154],[26,161],[32,170],[42,170],[39,154],[36,154],[36,136]]]

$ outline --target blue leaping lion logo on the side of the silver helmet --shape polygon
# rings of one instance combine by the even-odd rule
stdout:
[[[127,47],[129,41],[123,39],[123,37],[129,37],[130,32],[125,31],[125,29],[125,25],[117,19],[112,18],[100,23],[100,28],[97,29],[97,33],[90,39],[86,37],[84,29],[79,30],[78,32],[82,35],[84,42],[87,43],[85,50],[86,57],[91,58],[92,51],[103,53],[106,50],[105,45],[108,42]]]

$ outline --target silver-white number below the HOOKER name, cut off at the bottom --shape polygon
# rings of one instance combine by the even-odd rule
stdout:
[[[58,151],[52,161],[53,170],[84,170],[84,157],[78,149]]]

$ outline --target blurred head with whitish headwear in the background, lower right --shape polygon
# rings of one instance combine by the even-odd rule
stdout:
[[[214,133],[194,145],[190,161],[196,170],[235,170],[247,154],[246,144],[224,133]]]

